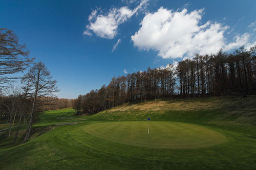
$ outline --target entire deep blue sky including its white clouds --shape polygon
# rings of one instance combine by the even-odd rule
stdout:
[[[75,99],[115,76],[256,45],[256,1],[7,1],[0,28]]]

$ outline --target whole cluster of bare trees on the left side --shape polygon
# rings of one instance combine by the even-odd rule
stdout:
[[[24,76],[16,76],[27,68]],[[13,86],[16,80],[20,80],[21,88]],[[29,57],[26,45],[19,44],[12,30],[0,28],[0,120],[9,124],[9,137],[12,125],[18,122],[14,142],[22,123],[28,124],[24,142],[28,140],[35,115],[42,111],[45,103],[56,98],[56,83],[44,63]]]

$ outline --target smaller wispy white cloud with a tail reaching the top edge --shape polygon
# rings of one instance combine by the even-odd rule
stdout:
[[[142,0],[134,10],[131,10],[128,7],[121,7],[120,9],[112,8],[107,14],[98,15],[98,9],[93,10],[88,17],[90,23],[86,26],[86,30],[83,34],[91,36],[91,31],[93,31],[101,38],[113,39],[117,35],[118,26],[145,6],[147,1],[148,0]]]

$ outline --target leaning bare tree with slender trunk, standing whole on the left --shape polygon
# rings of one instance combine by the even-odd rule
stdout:
[[[30,81],[32,84],[29,92],[32,94],[31,97],[33,99],[33,103],[30,114],[29,127],[26,132],[24,142],[26,142],[29,138],[36,99],[46,96],[54,98],[56,97],[55,93],[59,91],[56,86],[57,81],[52,80],[50,71],[42,62],[35,63],[34,66],[30,68],[29,72],[26,74],[22,82],[27,84],[26,82],[28,81]]]

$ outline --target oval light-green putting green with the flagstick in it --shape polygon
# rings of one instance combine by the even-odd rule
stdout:
[[[110,122],[83,127],[92,136],[146,148],[188,149],[210,147],[226,141],[218,132],[193,124],[176,122]]]

